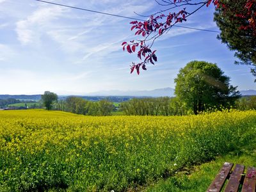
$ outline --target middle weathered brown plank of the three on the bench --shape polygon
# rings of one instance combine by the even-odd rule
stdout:
[[[243,172],[244,172],[244,165],[236,164],[234,171],[232,172],[228,180],[228,184],[225,188],[225,192],[238,191],[239,185],[241,184]]]

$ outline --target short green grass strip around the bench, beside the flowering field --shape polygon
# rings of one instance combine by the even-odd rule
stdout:
[[[200,166],[184,168],[175,173],[173,177],[161,179],[157,184],[148,186],[144,191],[206,191],[212,180],[216,177],[223,163],[243,164],[256,167],[256,139],[248,142],[246,146],[237,148],[225,156],[217,157],[214,161]]]

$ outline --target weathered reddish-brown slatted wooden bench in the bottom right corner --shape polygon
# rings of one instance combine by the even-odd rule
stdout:
[[[207,189],[207,192],[221,191],[226,180],[228,180],[228,182],[223,191],[238,191],[239,187],[242,187],[242,192],[255,192],[256,168],[248,167],[245,175],[244,165],[236,164],[234,170],[232,170],[233,165],[233,163],[223,164],[220,172]]]

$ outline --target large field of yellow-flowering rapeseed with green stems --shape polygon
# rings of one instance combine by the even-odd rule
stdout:
[[[256,111],[82,116],[0,111],[0,191],[124,191],[248,144]]]

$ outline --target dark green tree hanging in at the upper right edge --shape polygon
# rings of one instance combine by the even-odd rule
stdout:
[[[247,1],[221,0],[225,6],[216,9],[214,20],[221,30],[218,38],[227,44],[230,50],[235,51],[235,56],[241,60],[236,63],[251,65],[252,74],[256,76],[256,34],[255,29],[248,27],[248,20],[252,19],[252,15],[244,8]],[[255,3],[251,9],[256,9]]]

